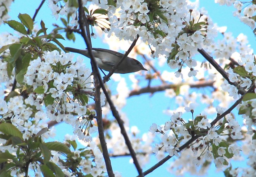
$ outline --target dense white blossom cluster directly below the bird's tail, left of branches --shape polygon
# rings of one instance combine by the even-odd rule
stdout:
[[[86,108],[89,100],[86,91],[93,91],[93,77],[82,58],[78,57],[76,62],[73,59],[73,54],[59,54],[55,50],[32,60],[25,81],[35,92],[28,95],[26,103],[37,110],[46,106],[48,118],[57,122],[63,120],[73,126],[80,139],[90,140],[91,136],[83,133],[81,127],[86,125],[90,132],[96,129],[91,124],[95,113]]]

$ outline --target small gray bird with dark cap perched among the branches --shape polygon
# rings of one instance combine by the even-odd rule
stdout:
[[[91,58],[87,49],[80,50],[76,48],[66,47],[65,50],[68,50],[70,52],[76,52],[85,55],[88,58]],[[124,54],[121,54],[119,52],[103,48],[92,48],[92,53],[98,64],[98,67],[109,72],[113,70],[113,67],[116,66],[124,56]],[[147,71],[147,69],[145,69],[138,60],[126,56],[124,58],[124,61],[115,70],[115,73],[125,74],[130,72],[136,72],[139,70]]]

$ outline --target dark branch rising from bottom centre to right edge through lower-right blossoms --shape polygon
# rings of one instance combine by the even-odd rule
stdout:
[[[253,91],[253,89],[255,88],[255,85],[253,84],[251,86],[251,88],[244,93],[244,95],[246,93],[250,93]],[[229,114],[237,105],[239,105],[242,100],[244,95],[241,96],[240,99],[238,99],[231,107],[229,107],[224,113],[218,115],[212,122],[211,122],[211,126],[213,126],[214,124],[216,124],[221,118],[223,118],[224,116],[226,116],[227,114]],[[193,138],[191,138],[190,140],[188,140],[187,143],[183,144],[182,146],[179,147],[179,151],[182,151],[183,149],[185,149],[186,147],[189,147],[189,144],[191,144],[192,142],[194,142],[197,138],[201,137],[202,135],[196,135]],[[153,172],[156,168],[158,168],[159,166],[163,165],[167,160],[171,159],[173,156],[166,156],[164,159],[160,160],[156,165],[152,166],[151,168],[149,168],[147,171],[145,171],[143,174],[147,175],[148,173]]]

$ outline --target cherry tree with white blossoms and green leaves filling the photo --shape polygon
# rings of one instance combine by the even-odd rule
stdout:
[[[254,0],[215,2],[234,6],[233,15],[255,33]],[[8,16],[12,0],[0,2],[0,25],[15,31],[0,34],[0,176],[121,176],[111,157],[124,155],[140,177],[174,156],[169,170],[178,174],[203,173],[213,163],[225,176],[256,176],[256,60],[245,35],[222,32],[216,42],[218,26],[187,0],[48,0],[61,22],[49,31],[47,19],[35,22],[44,3],[17,21]],[[111,49],[125,50],[124,57],[140,57],[148,71],[130,74],[131,85],[113,75],[116,67],[102,78],[92,55],[98,35]],[[91,66],[61,42],[77,38]],[[193,90],[199,87],[208,94]],[[151,126],[140,137],[123,107],[134,95],[156,92],[175,104],[159,125],[147,118]],[[143,111],[141,103],[133,106]],[[49,141],[60,122],[73,135]],[[159,161],[142,169],[152,154]],[[242,157],[247,166],[233,168],[230,160]]]

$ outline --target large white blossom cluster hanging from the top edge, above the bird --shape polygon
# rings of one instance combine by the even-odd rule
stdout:
[[[116,4],[107,5],[107,1],[93,1],[102,9],[107,10],[109,27],[101,28],[108,37],[115,35],[119,40],[133,41],[139,35],[143,42],[151,48],[152,57],[164,55],[172,69],[178,69],[176,77],[183,77],[181,68],[185,65],[191,69],[189,76],[195,76],[197,70],[193,68],[196,62],[192,57],[197,49],[209,46],[212,38],[216,36],[216,29],[204,9],[194,9],[193,4],[188,5],[185,0],[179,1],[117,1]],[[71,24],[77,24],[77,13],[65,10],[68,4],[58,5],[51,2],[53,14],[71,16]],[[118,8],[121,7],[121,10]],[[88,10],[90,11],[90,9]],[[74,13],[73,13],[74,12]],[[87,12],[88,13],[88,12]],[[90,18],[90,19],[89,19]],[[88,16],[92,26],[100,26],[102,17]],[[99,22],[99,24],[98,24]],[[104,25],[103,25],[104,26]],[[93,33],[93,37],[96,35]]]

